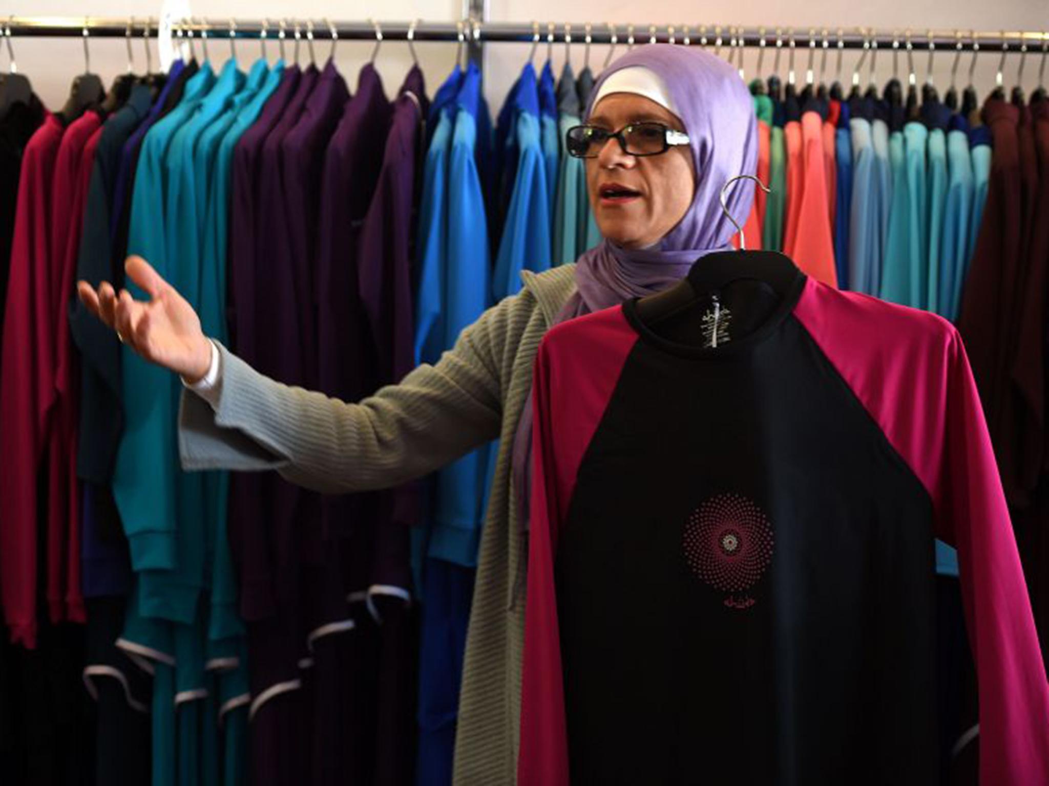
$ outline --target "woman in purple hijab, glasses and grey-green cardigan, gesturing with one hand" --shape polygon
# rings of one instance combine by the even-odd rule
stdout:
[[[98,290],[78,284],[122,341],[194,391],[184,392],[180,408],[187,470],[275,468],[315,490],[363,492],[426,475],[500,437],[459,700],[461,784],[512,783],[516,774],[527,554],[518,500],[527,499],[527,401],[539,341],[557,322],[665,288],[702,255],[728,247],[734,227],[721,189],[756,166],[751,96],[732,66],[705,51],[634,49],[598,80],[585,123],[569,141],[585,157],[603,242],[575,265],[523,274],[523,290],[464,330],[436,365],[360,403],[254,371],[209,341],[189,304],[141,258],[128,260],[127,274],[149,302],[126,290],[117,297],[106,282]],[[751,181],[741,181],[729,214],[742,222],[752,197]]]

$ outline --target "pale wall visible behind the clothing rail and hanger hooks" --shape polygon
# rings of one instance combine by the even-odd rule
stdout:
[[[312,18],[318,27],[325,17],[342,20],[363,20],[376,17],[380,20],[404,21],[421,18],[430,21],[453,21],[459,17],[462,3],[457,0],[383,0],[382,2],[350,3],[335,2],[335,0],[191,0],[193,12],[209,19],[228,19],[241,17],[258,19],[297,14],[301,19]],[[0,18],[8,15],[33,16],[74,16],[88,14],[98,17],[137,18],[152,16],[156,19],[160,13],[159,0],[2,0],[0,2]],[[917,51],[921,44],[922,31],[933,27],[936,29],[962,30],[998,30],[1001,28],[1016,30],[1049,29],[1049,0],[950,0],[949,3],[917,3],[915,0],[881,0],[878,3],[840,2],[835,0],[795,0],[791,3],[773,3],[769,0],[708,0],[702,7],[697,3],[684,0],[663,0],[663,2],[638,3],[622,0],[597,0],[564,3],[563,0],[490,0],[490,19],[492,21],[531,22],[541,21],[542,32],[545,35],[548,21],[558,23],[592,22],[595,26],[606,22],[620,24],[620,34],[625,38],[625,24],[630,21],[638,23],[635,36],[641,40],[647,32],[650,23],[680,25],[689,23],[693,35],[700,23],[709,25],[708,35],[712,35],[714,24],[723,24],[726,29],[729,24],[747,26],[767,25],[774,31],[776,25],[785,28],[794,25],[796,29],[806,31],[810,26],[817,30],[828,27],[833,36],[837,27],[855,28],[856,26],[873,26],[879,29],[911,27],[916,46],[915,68],[919,82],[924,79],[927,56],[925,51]],[[557,28],[558,38],[563,35],[563,27]],[[581,29],[573,30],[574,41],[578,41]],[[329,44],[324,41],[324,34],[319,29],[319,38],[315,44],[318,60],[327,57]],[[65,101],[69,83],[73,75],[84,67],[83,46],[79,39],[18,39],[14,41],[15,54],[19,69],[33,81],[37,92],[51,108],[60,108]],[[199,43],[197,44],[199,47]],[[127,68],[127,53],[123,40],[100,39],[91,42],[91,70],[109,81]],[[244,61],[257,57],[257,42],[241,41],[237,45],[240,58]],[[213,40],[209,44],[211,57],[214,60],[226,57],[229,45],[224,41]],[[276,45],[269,46],[270,58],[276,57]],[[342,41],[338,47],[338,63],[346,75],[350,89],[356,85],[356,74],[360,66],[370,54],[372,45],[363,42]],[[415,44],[424,72],[427,87],[433,90],[451,68],[455,57],[454,44],[440,42],[420,42]],[[518,69],[528,57],[529,44],[491,44],[488,46],[486,70],[486,92],[492,107],[497,111],[506,95],[507,88],[515,79]],[[537,63],[545,58],[545,43],[540,45],[536,56]],[[592,67],[600,66],[605,59],[607,47],[593,46],[591,51]],[[623,51],[620,48],[619,51]],[[723,54],[725,52],[723,51]],[[133,48],[136,69],[145,65],[143,43],[135,42]],[[564,60],[564,45],[553,48],[554,64],[557,71]],[[291,57],[291,46],[288,46]],[[305,46],[300,50],[300,60],[307,58]],[[847,51],[842,82],[848,83],[852,66],[859,57],[856,51]],[[572,60],[576,70],[582,66],[583,46],[573,44]],[[892,54],[880,50],[877,59],[876,74],[879,83],[883,83],[892,70]],[[934,74],[941,92],[949,81],[949,70],[954,54],[938,51],[934,62]],[[981,54],[977,62],[976,84],[981,94],[993,87],[994,72],[1000,56],[997,53]],[[1009,54],[1006,67],[1006,84],[1011,87],[1015,82],[1020,56]],[[153,46],[153,62],[156,63],[156,48]],[[745,64],[748,79],[752,75],[757,62],[756,49],[748,50]],[[816,54],[818,72],[820,62]],[[1040,53],[1029,53],[1024,73],[1024,84],[1028,90],[1037,83],[1037,70],[1041,62]],[[795,68],[798,81],[805,79],[805,68],[808,63],[808,51],[798,48],[795,53]],[[963,56],[959,69],[960,85],[965,84],[969,56]],[[383,77],[387,93],[395,92],[403,79],[410,57],[403,42],[386,42],[380,50],[377,65]],[[768,72],[772,64],[772,52],[765,57],[763,71]],[[832,52],[828,57],[828,70],[833,73],[836,57]],[[6,69],[6,52],[0,56],[0,68]],[[901,52],[899,57],[901,77],[905,78],[906,58]],[[780,73],[786,75],[787,57],[784,52]],[[556,72],[556,71],[555,71]],[[1049,68],[1047,68],[1049,80]],[[863,71],[866,81],[866,70]]]

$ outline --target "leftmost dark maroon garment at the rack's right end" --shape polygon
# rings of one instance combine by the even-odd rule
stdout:
[[[1001,99],[988,99],[983,121],[990,128],[993,153],[987,201],[962,290],[958,330],[972,366],[996,456],[1003,463],[1002,399],[1008,385],[1008,341],[1019,309],[1021,256],[1021,158],[1016,126],[1020,110]],[[1015,485],[1003,478],[1006,499]]]

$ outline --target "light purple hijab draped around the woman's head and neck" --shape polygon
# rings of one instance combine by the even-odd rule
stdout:
[[[757,167],[757,122],[753,99],[736,69],[703,49],[673,44],[646,44],[622,56],[597,80],[594,96],[609,74],[628,66],[645,66],[663,79],[689,136],[695,162],[695,195],[681,221],[658,244],[627,249],[604,239],[576,260],[576,291],[555,324],[625,300],[665,289],[685,277],[697,259],[731,247],[736,230],[721,208],[720,194],[735,175]],[[753,180],[737,181],[726,195],[729,213],[743,223],[754,198]],[[532,394],[517,427],[513,445],[514,489],[528,526],[531,492]]]

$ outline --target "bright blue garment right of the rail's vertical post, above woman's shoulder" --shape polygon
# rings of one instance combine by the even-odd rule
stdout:
[[[542,272],[550,268],[550,191],[539,139],[539,95],[534,74],[528,63],[513,93],[511,117],[517,165],[492,281],[495,301],[520,291],[522,269]]]

